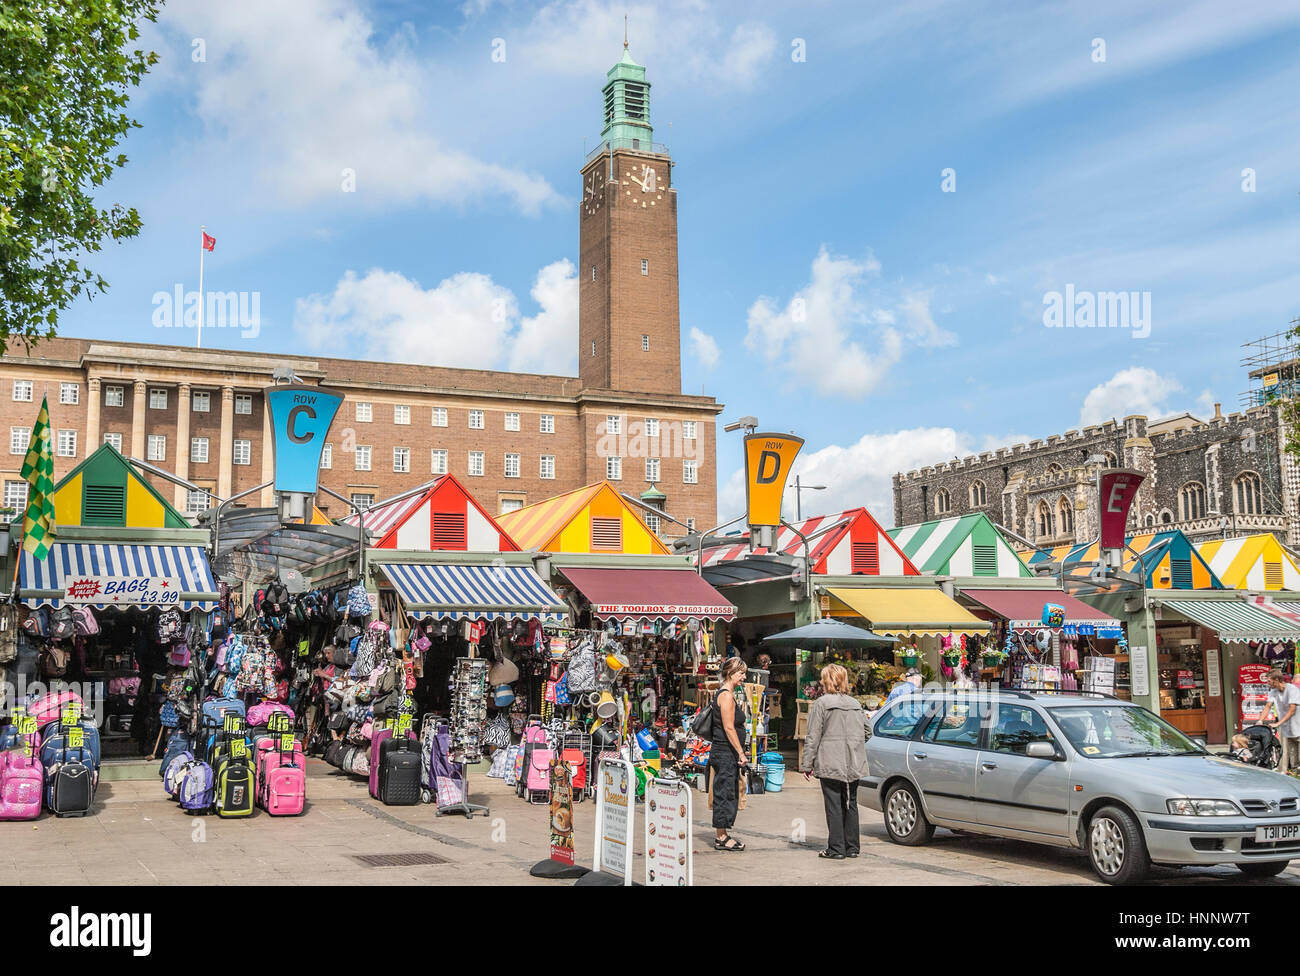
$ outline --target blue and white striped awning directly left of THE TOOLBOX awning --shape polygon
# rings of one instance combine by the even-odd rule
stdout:
[[[562,620],[566,613],[532,567],[382,563],[380,569],[413,617]]]

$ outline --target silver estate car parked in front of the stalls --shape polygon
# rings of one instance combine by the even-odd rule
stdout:
[[[939,825],[1083,849],[1109,884],[1152,863],[1269,877],[1300,856],[1296,780],[1106,695],[907,695],[871,723],[867,767],[862,803],[894,843],[926,843]]]

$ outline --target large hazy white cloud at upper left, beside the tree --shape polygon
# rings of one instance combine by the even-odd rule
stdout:
[[[172,65],[195,86],[204,146],[250,183],[292,204],[463,204],[503,198],[524,213],[559,201],[538,175],[455,148],[439,126],[454,109],[412,51],[411,27],[376,34],[355,0],[168,4],[174,52],[203,38],[207,61]],[[467,136],[468,138],[468,136]],[[344,192],[346,170],[355,194]]]

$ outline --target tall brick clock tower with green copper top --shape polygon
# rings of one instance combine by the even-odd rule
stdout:
[[[677,191],[650,127],[646,69],[627,40],[606,75],[601,146],[582,165],[578,226],[582,386],[680,394]]]

